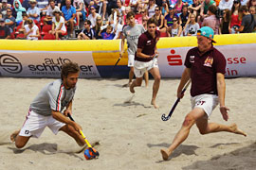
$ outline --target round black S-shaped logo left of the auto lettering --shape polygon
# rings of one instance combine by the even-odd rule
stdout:
[[[0,56],[0,67],[10,74],[19,74],[22,72],[22,64],[19,59],[9,54]]]

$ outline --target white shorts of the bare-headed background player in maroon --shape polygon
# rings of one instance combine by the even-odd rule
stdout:
[[[135,61],[135,76],[142,77],[147,70],[151,70],[152,68],[158,68],[157,59],[152,59],[148,62]]]

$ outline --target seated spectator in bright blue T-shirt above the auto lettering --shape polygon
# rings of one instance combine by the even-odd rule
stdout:
[[[70,37],[73,38],[74,26],[76,25],[76,8],[71,5],[71,0],[65,0],[65,6],[62,8],[65,25],[70,26]]]

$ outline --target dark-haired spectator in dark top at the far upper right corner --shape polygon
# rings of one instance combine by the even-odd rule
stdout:
[[[252,14],[249,13],[247,6],[242,6],[239,8],[239,12],[243,14],[243,19],[241,26],[239,28],[236,28],[236,31],[239,31],[241,33],[250,33],[253,32],[255,29],[255,21]]]

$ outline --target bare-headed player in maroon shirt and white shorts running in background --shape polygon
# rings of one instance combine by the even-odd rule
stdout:
[[[157,59],[154,57],[155,55],[158,55],[156,42],[159,40],[160,32],[156,30],[157,21],[154,17],[148,20],[147,26],[147,31],[141,34],[138,38],[137,53],[135,55],[134,65],[136,79],[130,86],[130,92],[135,93],[134,88],[141,86],[144,73],[149,71],[155,79],[151,104],[155,107],[155,109],[157,109],[159,107],[155,103],[155,98],[159,89],[161,76],[159,73]]]

